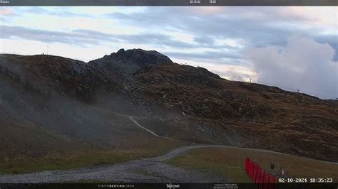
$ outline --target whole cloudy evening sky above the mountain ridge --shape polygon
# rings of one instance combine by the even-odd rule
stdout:
[[[230,80],[338,97],[338,8],[1,7],[0,53],[88,61],[157,50]],[[47,48],[48,45],[48,48]]]

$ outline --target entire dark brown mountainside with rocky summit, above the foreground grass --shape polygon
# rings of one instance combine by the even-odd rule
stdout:
[[[1,156],[120,148],[140,136],[123,121],[135,116],[181,141],[338,161],[336,101],[225,80],[154,50],[121,49],[88,63],[2,54],[0,96]]]

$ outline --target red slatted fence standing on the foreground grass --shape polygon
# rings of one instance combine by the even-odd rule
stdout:
[[[262,189],[275,189],[276,175],[271,175],[267,171],[250,158],[245,159],[245,171],[247,176],[254,182],[260,185]]]

